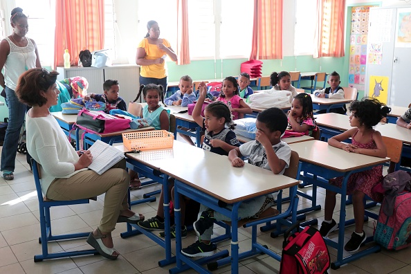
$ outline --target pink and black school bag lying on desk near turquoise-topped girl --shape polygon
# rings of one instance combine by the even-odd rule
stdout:
[[[130,128],[131,120],[111,116],[104,111],[82,109],[77,115],[75,125],[92,134],[108,134]]]

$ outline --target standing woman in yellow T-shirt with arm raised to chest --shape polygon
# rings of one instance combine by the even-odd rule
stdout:
[[[165,57],[176,61],[177,55],[164,38],[160,37],[160,27],[154,20],[147,23],[147,35],[138,44],[136,64],[140,65],[140,84],[161,84],[167,92],[167,65]]]

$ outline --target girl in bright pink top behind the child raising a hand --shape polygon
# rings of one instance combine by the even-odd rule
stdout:
[[[228,76],[223,80],[223,90],[217,101],[224,102],[228,105],[232,113],[232,120],[244,118],[244,114],[253,113],[251,108],[238,95],[238,83],[235,77]]]

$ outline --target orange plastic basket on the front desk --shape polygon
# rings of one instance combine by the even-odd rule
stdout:
[[[173,147],[174,135],[166,130],[127,132],[122,134],[122,143],[129,151],[164,149]]]

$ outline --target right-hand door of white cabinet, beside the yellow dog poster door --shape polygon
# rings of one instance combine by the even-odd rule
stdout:
[[[390,104],[399,107],[408,107],[408,104],[411,103],[409,82],[411,61],[410,16],[411,8],[396,9]]]

